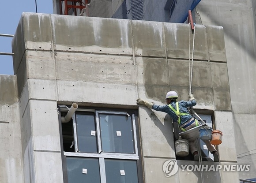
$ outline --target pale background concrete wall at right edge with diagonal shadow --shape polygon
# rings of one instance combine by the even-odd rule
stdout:
[[[254,0],[203,0],[197,11],[204,25],[223,26],[238,162],[251,164],[256,176],[256,60]]]

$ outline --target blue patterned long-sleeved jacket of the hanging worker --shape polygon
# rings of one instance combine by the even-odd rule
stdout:
[[[179,101],[179,111],[181,113],[188,113],[188,107],[192,107],[196,105],[196,100],[192,100],[192,101]],[[176,101],[172,101],[170,104],[176,111]],[[173,110],[169,107],[169,105],[153,105],[152,109],[156,110],[156,111],[162,111],[162,112],[166,112],[167,114],[169,114],[169,116],[171,116],[171,118],[173,119],[173,121],[178,121],[178,116],[175,114],[175,112],[173,112]],[[192,116],[188,113],[188,115],[181,115],[181,123],[179,124],[180,126],[184,123],[186,123],[188,120],[190,120],[192,118]]]

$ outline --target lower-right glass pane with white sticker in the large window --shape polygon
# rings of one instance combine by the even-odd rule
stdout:
[[[136,161],[105,160],[105,171],[107,183],[139,182]]]

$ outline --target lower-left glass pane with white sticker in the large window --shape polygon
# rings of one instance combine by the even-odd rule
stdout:
[[[98,159],[67,157],[68,183],[101,183]]]

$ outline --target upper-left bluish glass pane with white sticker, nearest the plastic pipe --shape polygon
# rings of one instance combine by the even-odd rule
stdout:
[[[98,153],[94,115],[76,114],[78,152]]]

